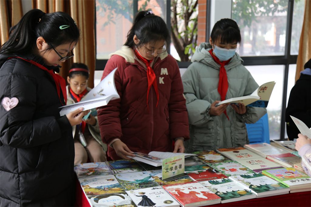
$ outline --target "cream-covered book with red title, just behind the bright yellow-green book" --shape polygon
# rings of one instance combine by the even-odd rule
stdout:
[[[249,169],[252,169],[254,172],[261,173],[262,170],[281,168],[280,164],[272,162],[266,158],[254,158],[248,160],[239,160],[239,163],[245,165]]]

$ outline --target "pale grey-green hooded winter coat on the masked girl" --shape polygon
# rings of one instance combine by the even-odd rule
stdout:
[[[228,106],[230,120],[224,113],[219,116],[209,114],[211,104],[220,100],[217,90],[220,65],[211,57],[210,49],[210,44],[201,43],[191,59],[193,63],[182,77],[191,137],[185,142],[186,152],[244,146],[249,142],[245,123],[255,123],[267,113],[266,108],[247,107],[247,112],[239,115]],[[225,99],[246,96],[258,88],[242,63],[235,53],[225,65],[229,84]]]

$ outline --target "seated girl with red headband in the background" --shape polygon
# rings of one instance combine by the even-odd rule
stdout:
[[[67,77],[67,105],[74,104],[83,98],[91,88],[87,87],[89,68],[83,63],[73,63]],[[92,115],[92,113],[94,113]],[[90,162],[106,161],[107,145],[101,141],[96,111],[83,119],[81,124],[72,127],[75,143],[75,165]]]

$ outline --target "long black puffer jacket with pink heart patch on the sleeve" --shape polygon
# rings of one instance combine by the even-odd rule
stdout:
[[[0,206],[71,206],[72,127],[59,116],[55,82],[47,71],[8,57],[0,55]],[[18,104],[7,111],[5,97],[17,98]]]

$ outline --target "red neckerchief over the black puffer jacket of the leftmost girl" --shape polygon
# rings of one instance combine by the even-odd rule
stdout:
[[[27,60],[27,59],[24,59],[24,58],[22,58],[22,57],[17,57],[17,56],[16,56],[16,57],[9,57],[9,58],[7,58],[7,59],[11,59],[11,58],[19,58],[19,59],[22,59],[22,60],[24,60],[24,61],[26,61],[26,62],[30,62],[31,64],[37,66],[38,68],[40,68],[40,69],[42,69],[42,70],[47,71],[47,72],[52,76],[52,78],[54,79],[55,85],[56,85],[56,89],[57,89],[57,94],[58,94],[59,101],[61,102],[62,105],[64,105],[63,102],[62,102],[62,99],[61,99],[61,97],[60,97],[60,88],[62,89],[62,93],[63,93],[65,105],[66,105],[66,103],[67,103],[66,82],[65,82],[65,79],[63,79],[62,76],[60,76],[60,75],[54,73],[53,70],[48,70],[46,67],[44,67],[43,65],[41,65],[41,64],[39,64],[39,63],[37,63],[37,62],[35,62],[35,61]],[[59,88],[59,86],[60,86],[60,88]]]

